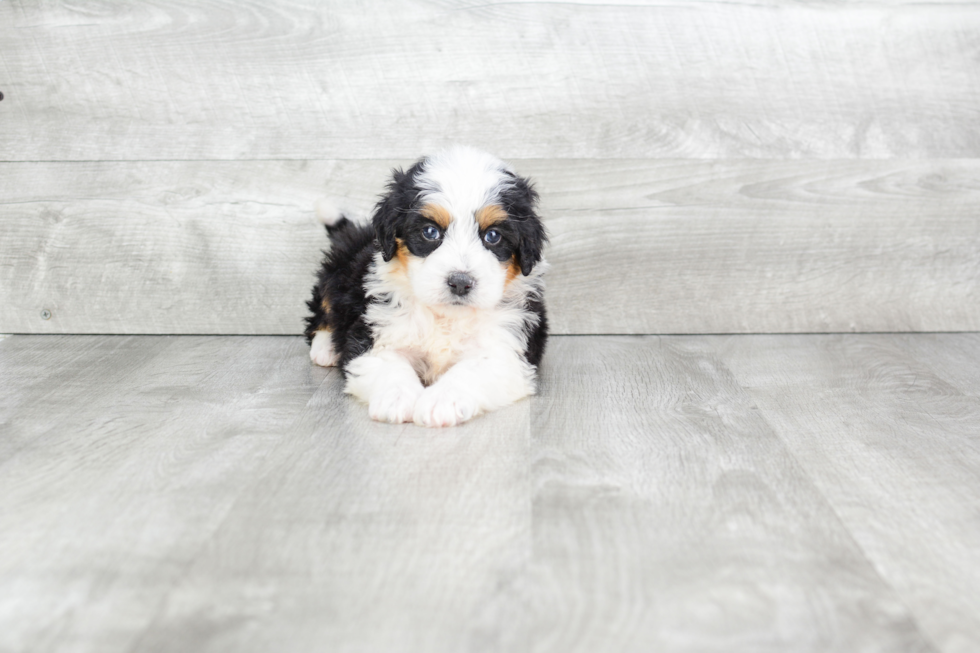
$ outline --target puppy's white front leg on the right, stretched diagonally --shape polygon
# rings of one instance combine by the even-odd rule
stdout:
[[[461,360],[415,403],[419,426],[454,426],[534,394],[534,368],[512,351]]]

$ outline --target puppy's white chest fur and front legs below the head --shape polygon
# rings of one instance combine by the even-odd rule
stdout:
[[[542,290],[545,265],[511,282],[490,309],[428,306],[392,281],[380,254],[368,292],[372,350],[347,366],[346,391],[369,404],[372,419],[453,426],[534,393],[534,368],[523,358],[525,293]],[[428,384],[423,389],[422,382]]]

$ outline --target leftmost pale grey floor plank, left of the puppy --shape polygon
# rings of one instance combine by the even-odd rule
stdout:
[[[129,650],[263,459],[303,437],[308,366],[297,338],[0,342],[21,393],[0,417],[20,445],[0,458],[0,650]]]

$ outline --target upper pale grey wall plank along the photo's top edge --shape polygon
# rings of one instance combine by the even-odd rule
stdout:
[[[980,154],[976,2],[0,3],[0,157]]]

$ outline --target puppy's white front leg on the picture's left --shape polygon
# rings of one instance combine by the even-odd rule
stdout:
[[[422,389],[415,368],[397,352],[372,352],[347,364],[344,391],[367,403],[379,422],[411,422]]]

